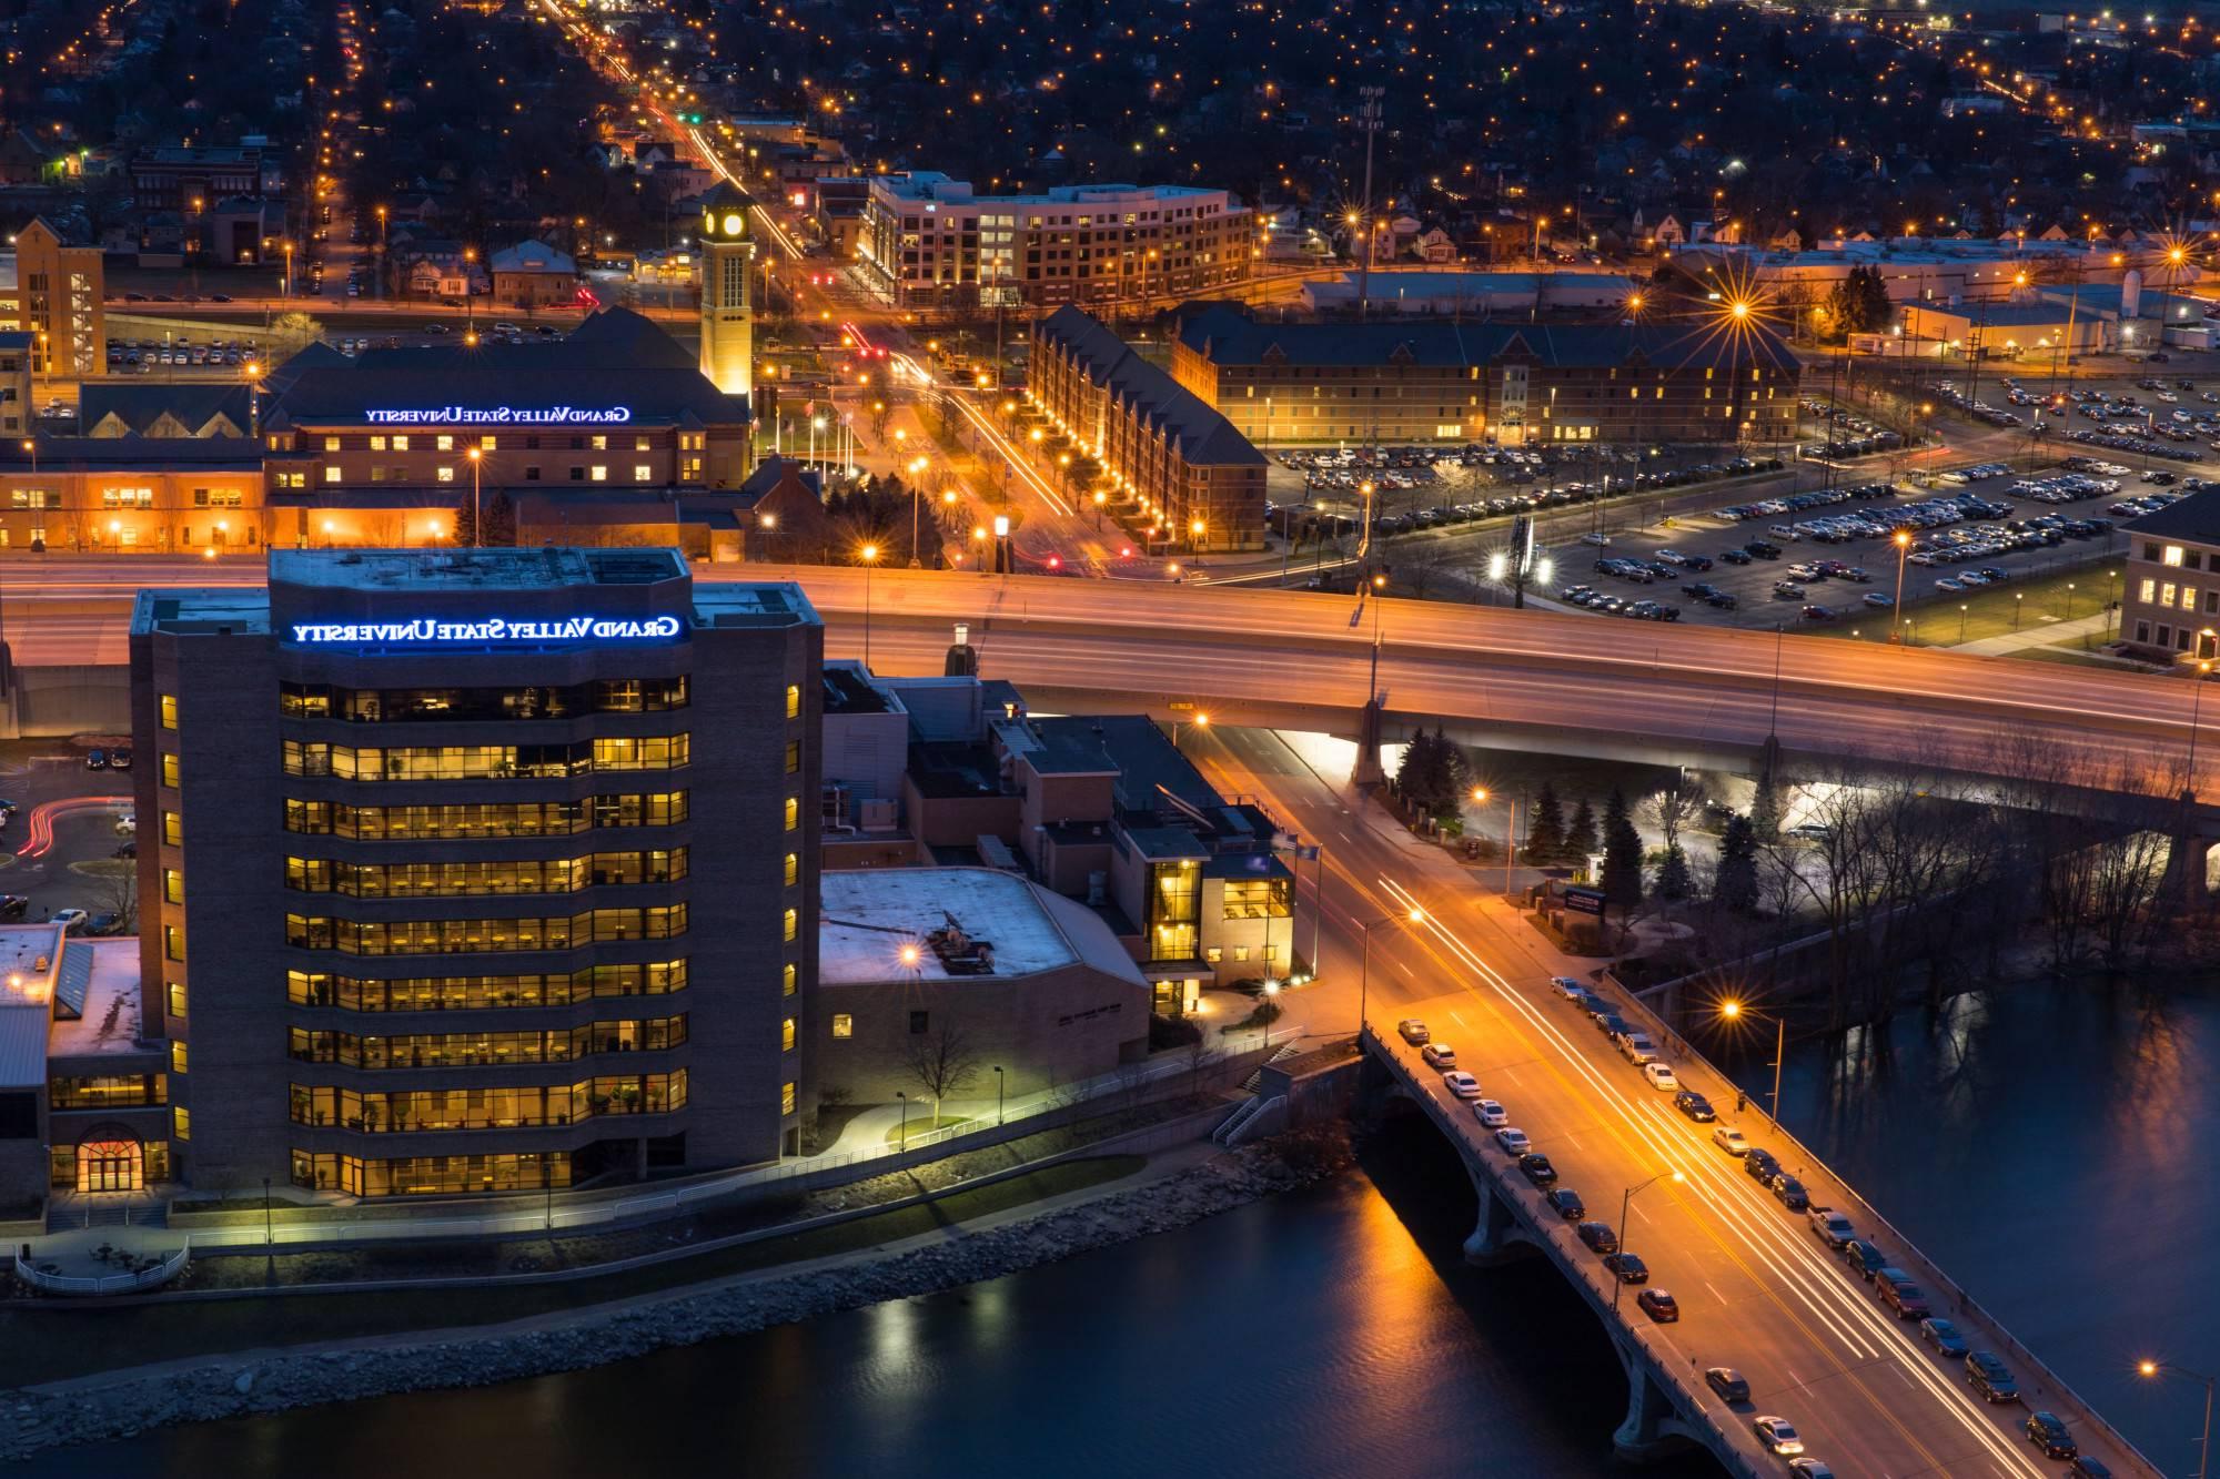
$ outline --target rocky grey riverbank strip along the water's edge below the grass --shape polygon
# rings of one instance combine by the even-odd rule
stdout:
[[[670,1346],[932,1295],[1183,1228],[1310,1186],[1348,1161],[1348,1133],[1339,1124],[1201,1161],[1174,1150],[1154,1157],[1137,1181],[1079,1193],[1072,1204],[955,1224],[901,1244],[653,1297],[504,1326],[244,1350],[18,1388],[0,1395],[9,1417],[0,1426],[0,1459],[171,1423],[584,1370]]]

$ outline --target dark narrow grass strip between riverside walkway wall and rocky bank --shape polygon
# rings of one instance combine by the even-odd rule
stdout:
[[[650,1295],[704,1279],[855,1252],[950,1224],[988,1217],[1088,1186],[1128,1177],[1146,1164],[1139,1155],[1101,1155],[1063,1161],[1023,1177],[961,1190],[924,1206],[857,1217],[833,1228],[770,1237],[739,1248],[704,1252],[606,1279],[568,1284],[471,1286],[362,1292],[273,1295],[200,1304],[142,1304],[122,1308],[0,1306],[0,1386],[58,1381],[115,1366],[175,1361],[266,1346],[340,1341],[526,1319],[593,1304]]]

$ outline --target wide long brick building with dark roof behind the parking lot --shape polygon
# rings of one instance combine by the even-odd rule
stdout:
[[[1798,362],[1763,324],[1265,322],[1181,313],[1172,380],[1263,446],[1787,442]]]

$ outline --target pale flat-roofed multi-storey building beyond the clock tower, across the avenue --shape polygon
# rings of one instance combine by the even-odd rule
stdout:
[[[1241,282],[1254,218],[1228,191],[1074,184],[975,195],[935,171],[872,175],[857,260],[904,309],[1183,298]]]

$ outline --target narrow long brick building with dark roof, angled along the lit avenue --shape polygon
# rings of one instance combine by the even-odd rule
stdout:
[[[1263,453],[1097,318],[1063,306],[1039,320],[1028,378],[1032,404],[1101,466],[1119,517],[1154,546],[1263,546]]]

